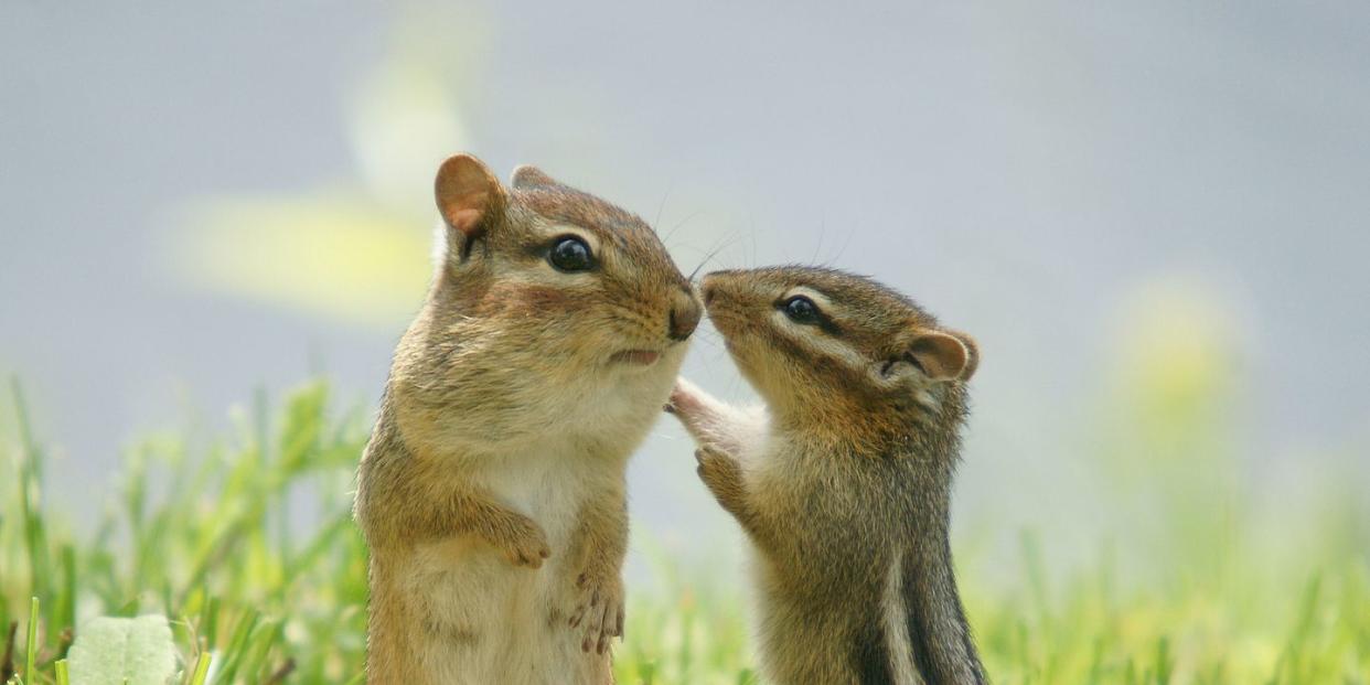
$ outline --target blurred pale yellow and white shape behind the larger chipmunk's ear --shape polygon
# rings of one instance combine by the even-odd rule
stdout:
[[[432,273],[433,175],[469,138],[459,85],[486,21],[466,5],[403,10],[344,104],[356,184],[192,203],[171,270],[225,295],[395,326]]]

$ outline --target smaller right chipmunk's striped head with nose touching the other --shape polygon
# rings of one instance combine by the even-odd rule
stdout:
[[[743,375],[781,415],[859,427],[851,422],[962,411],[974,340],[870,278],[812,267],[717,271],[701,292]]]

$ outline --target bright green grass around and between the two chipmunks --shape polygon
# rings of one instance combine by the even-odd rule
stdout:
[[[349,493],[370,427],[363,410],[337,414],[314,382],[274,410],[259,396],[221,440],[148,437],[125,452],[107,512],[78,525],[44,501],[62,484],[44,480],[18,384],[5,404],[0,626],[19,630],[0,669],[21,670],[15,682],[63,682],[82,619],[149,612],[173,621],[181,682],[204,682],[211,660],[219,684],[359,682],[366,551]],[[1291,563],[1278,545],[1245,544],[1247,533],[1195,538],[1203,526],[1162,523],[1180,551],[1144,569],[1103,553],[1054,580],[1038,534],[1023,533],[1007,569],[1019,581],[1004,586],[980,581],[988,562],[963,555],[963,596],[995,682],[1370,684],[1370,569],[1358,537],[1329,533],[1315,558]],[[1215,563],[1180,562],[1193,556],[1182,549],[1215,545]],[[667,560],[659,569],[666,589],[630,599],[619,681],[752,682],[736,593],[690,582]]]

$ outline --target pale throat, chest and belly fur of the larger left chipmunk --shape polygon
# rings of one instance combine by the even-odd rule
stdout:
[[[470,536],[415,551],[401,577],[411,584],[404,596],[421,599],[440,623],[437,632],[422,632],[426,644],[418,649],[432,682],[610,682],[608,655],[585,653],[584,632],[567,625],[581,573],[567,547],[585,500],[622,486],[627,456],[660,415],[684,353],[678,345],[652,369],[562,388],[543,414],[545,440],[463,464],[463,478],[543,527],[552,555],[537,570],[514,567]],[[462,634],[478,638],[466,644],[453,638]]]

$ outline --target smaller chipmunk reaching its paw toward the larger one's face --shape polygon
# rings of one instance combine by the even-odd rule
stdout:
[[[974,340],[841,271],[719,271],[701,292],[764,410],[685,379],[666,410],[755,551],[763,674],[984,684],[948,543]]]

